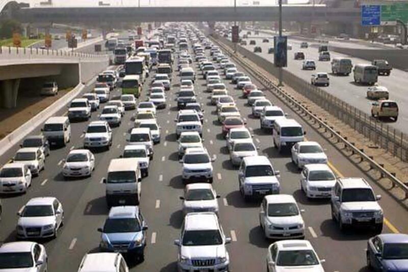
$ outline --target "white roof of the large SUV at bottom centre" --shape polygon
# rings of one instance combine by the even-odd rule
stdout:
[[[188,213],[184,227],[185,230],[218,230],[217,215],[213,212]]]

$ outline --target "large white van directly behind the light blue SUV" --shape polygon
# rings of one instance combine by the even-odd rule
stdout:
[[[111,160],[106,184],[108,206],[139,205],[142,176],[137,158]]]

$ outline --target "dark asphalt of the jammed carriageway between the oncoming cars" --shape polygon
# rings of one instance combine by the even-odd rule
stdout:
[[[193,67],[196,69],[195,64]],[[242,69],[241,67],[238,67]],[[175,69],[174,69],[175,70]],[[158,122],[161,125],[162,140],[155,145],[155,157],[150,164],[149,176],[142,181],[141,211],[147,221],[147,248],[145,261],[136,263],[128,258],[131,271],[174,271],[176,268],[177,250],[173,240],[180,234],[182,224],[181,201],[183,194],[181,165],[177,158],[175,137],[176,102],[174,101],[179,78],[173,72],[172,88],[167,92],[167,108],[158,111]],[[203,92],[205,81],[198,73],[195,89],[198,101],[205,109],[203,124],[204,145],[211,156],[216,155],[213,186],[221,195],[219,199],[220,221],[227,236],[233,238],[228,245],[232,271],[265,271],[267,246],[271,241],[264,239],[258,222],[259,202],[244,203],[238,190],[237,169],[232,167],[226,153],[225,140],[221,135],[214,107],[209,106],[209,94]],[[261,84],[253,79],[253,82]],[[254,143],[260,146],[260,153],[269,157],[274,168],[281,171],[281,193],[293,194],[301,209],[305,209],[303,219],[306,225],[306,238],[314,245],[319,257],[326,259],[326,271],[366,271],[365,248],[367,239],[372,233],[366,230],[341,233],[331,220],[328,202],[308,201],[299,190],[299,171],[290,162],[288,155],[279,155],[272,147],[271,135],[260,130],[259,120],[250,115],[246,101],[240,98],[241,91],[225,81],[233,95],[247,127],[253,131]],[[92,86],[88,86],[90,90]],[[141,101],[145,100],[147,85],[143,87]],[[112,92],[111,97],[120,94],[120,90]],[[365,177],[373,186],[376,194],[382,194],[380,205],[384,209],[388,224],[383,232],[408,231],[406,210],[397,204],[390,195],[376,186],[363,172],[343,157],[323,137],[298,117],[290,108],[277,100],[271,93],[266,96],[277,106],[296,118],[307,131],[310,140],[318,141],[329,157],[337,175]],[[101,107],[103,108],[103,107]],[[58,114],[63,114],[61,109]],[[100,112],[100,110],[98,111]],[[92,114],[92,120],[98,118],[98,112]],[[80,148],[83,143],[83,131],[87,122],[72,123],[72,138],[65,147],[53,150],[47,158],[45,171],[35,178],[32,187],[25,195],[6,196],[3,199],[4,214],[0,222],[0,240],[15,240],[16,212],[29,199],[36,196],[56,196],[64,207],[64,227],[54,240],[44,241],[48,252],[49,271],[77,271],[80,261],[87,252],[97,252],[100,234],[96,231],[103,226],[108,214],[105,201],[105,185],[101,179],[106,176],[109,162],[117,158],[126,144],[126,133],[133,127],[134,111],[127,111],[122,125],[113,129],[113,145],[110,151],[95,152],[96,167],[91,178],[64,181],[62,178],[61,160],[70,149]],[[39,133],[39,128],[35,133]],[[14,150],[17,149],[15,146]],[[4,164],[11,157],[11,152],[0,157]]]

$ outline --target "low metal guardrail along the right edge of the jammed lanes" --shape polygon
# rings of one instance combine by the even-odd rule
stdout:
[[[352,152],[353,155],[358,155],[361,158],[360,162],[367,162],[370,165],[370,170],[375,169],[377,170],[381,178],[387,178],[392,182],[392,187],[399,187],[405,192],[405,198],[408,198],[408,186],[405,185],[402,181],[395,177],[395,174],[389,172],[387,169],[384,168],[384,165],[377,163],[371,156],[368,156],[364,153],[364,150],[358,149],[354,143],[349,142],[346,137],[340,135],[340,132],[335,131],[333,127],[330,127],[325,123],[321,118],[313,114],[307,107],[304,107],[299,101],[297,101],[293,96],[291,96],[285,90],[277,87],[267,76],[264,75],[257,67],[249,64],[244,58],[239,57],[237,54],[234,54],[234,51],[231,47],[223,44],[222,42],[213,39],[222,49],[230,55],[235,61],[237,61],[240,65],[242,65],[248,73],[252,74],[252,76],[256,77],[265,87],[270,89],[274,94],[276,94],[282,100],[286,100],[288,103],[291,104],[292,107],[299,110],[301,113],[304,113],[306,116],[310,118],[310,120],[319,126],[319,128],[324,128],[325,132],[329,132],[331,137],[335,137],[337,143],[341,142],[344,144],[344,147]]]

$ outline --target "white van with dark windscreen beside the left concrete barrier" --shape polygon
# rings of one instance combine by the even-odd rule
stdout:
[[[50,145],[65,146],[71,140],[71,125],[66,116],[49,117],[41,131]]]

